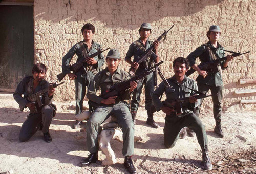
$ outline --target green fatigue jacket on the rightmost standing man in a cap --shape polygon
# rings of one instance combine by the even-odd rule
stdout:
[[[206,62],[212,61],[205,45],[211,47],[210,49],[212,50],[213,53],[215,53],[217,59],[225,57],[225,52],[223,50],[219,49],[219,48],[223,49],[223,47],[218,43],[218,48],[217,49],[212,49],[214,46],[212,46],[211,42],[209,41],[207,44],[201,45],[195,51],[193,51],[192,53],[190,53],[187,56],[190,67],[195,64],[195,61],[196,61],[197,57],[199,57],[201,63],[206,63]],[[221,62],[221,69],[222,70],[227,68],[227,67],[223,67],[224,62],[225,61]],[[222,76],[221,76],[220,72],[217,72],[217,73],[210,73],[209,72],[208,75],[205,78],[201,75],[198,75],[196,81],[199,82],[199,83],[209,85],[209,86],[222,86],[223,85]]]

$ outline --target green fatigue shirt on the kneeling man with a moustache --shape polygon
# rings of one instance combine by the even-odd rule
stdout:
[[[189,97],[195,94],[195,92],[190,89],[198,90],[195,80],[186,76],[183,79],[182,85],[177,84],[177,80],[175,79],[174,76],[167,79],[167,81],[170,84],[169,88],[166,88],[164,82],[161,82],[158,88],[153,92],[152,100],[157,111],[160,111],[160,108],[164,106],[159,99],[159,97],[164,92],[166,95],[166,100],[174,100],[174,99]],[[181,106],[184,110],[189,110],[189,113],[190,113],[192,112],[191,109],[197,107],[200,103],[201,103],[201,100],[197,99],[197,102],[195,103],[184,102],[182,103]]]

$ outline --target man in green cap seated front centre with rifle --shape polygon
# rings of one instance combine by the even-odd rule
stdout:
[[[87,93],[87,98],[100,106],[96,108],[87,123],[87,148],[90,155],[83,159],[80,165],[89,166],[98,160],[98,129],[104,120],[113,115],[117,118],[118,125],[123,132],[124,166],[130,173],[135,173],[136,168],[131,159],[134,151],[134,123],[129,111],[129,104],[124,100],[130,99],[130,93],[137,87],[137,83],[135,81],[130,82],[130,89],[122,96],[113,96],[108,99],[97,96],[96,92],[99,89],[103,93],[115,83],[129,79],[129,74],[118,67],[120,62],[118,50],[110,50],[106,56],[106,62],[108,67],[95,75]]]

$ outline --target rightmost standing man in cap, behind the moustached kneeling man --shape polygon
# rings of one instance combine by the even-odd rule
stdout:
[[[199,57],[201,63],[206,63],[215,59],[225,57],[223,47],[219,44],[218,40],[221,35],[221,29],[217,25],[212,25],[207,32],[209,41],[206,44],[201,45],[195,51],[187,56],[190,67],[198,72],[196,79],[198,90],[207,93],[209,90],[212,94],[212,102],[214,104],[214,118],[216,126],[214,128],[215,133],[219,137],[224,137],[224,133],[221,129],[221,113],[222,113],[222,98],[223,98],[223,80],[222,70],[228,67],[228,62],[233,59],[233,56],[227,55],[227,60],[217,64],[218,72],[207,72],[201,70],[195,63],[197,57]],[[222,69],[222,70],[221,70]],[[202,100],[203,102],[203,100]],[[199,116],[200,106],[196,108],[195,114]],[[189,135],[189,133],[188,133]],[[193,134],[190,134],[193,136]]]

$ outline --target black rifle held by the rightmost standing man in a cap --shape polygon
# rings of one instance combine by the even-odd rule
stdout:
[[[220,49],[220,50],[223,50],[223,49]],[[224,51],[227,51],[227,50],[224,50]],[[233,51],[228,51],[230,53],[232,53],[232,56],[233,57],[237,57],[237,56],[240,56],[242,54],[246,54],[246,53],[249,53],[250,51],[247,51],[245,53],[236,53],[236,52],[233,52]],[[212,73],[217,73],[218,72],[218,68],[217,68],[217,63],[221,62],[221,61],[224,61],[224,60],[227,60],[227,56],[226,57],[223,57],[223,58],[219,58],[217,60],[212,60],[212,61],[209,61],[209,62],[206,62],[206,63],[201,63],[199,64],[199,68],[201,70],[204,70],[204,71],[207,71],[207,72],[212,72]],[[189,76],[191,74],[193,74],[196,70],[194,70],[193,68],[190,68],[187,72],[186,72],[186,76]]]

